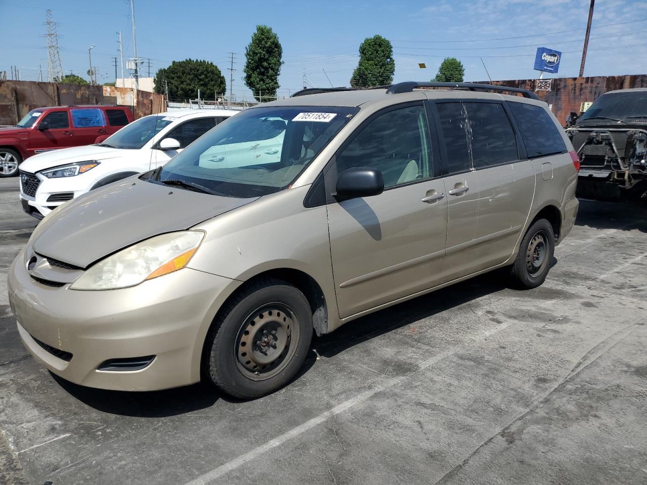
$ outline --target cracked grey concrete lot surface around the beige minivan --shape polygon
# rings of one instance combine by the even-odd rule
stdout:
[[[16,186],[0,180],[0,274],[36,224]],[[540,288],[488,274],[349,323],[252,402],[54,378],[0,277],[0,482],[643,484],[642,214],[584,201]]]

